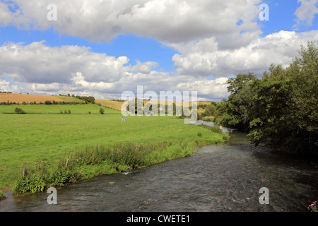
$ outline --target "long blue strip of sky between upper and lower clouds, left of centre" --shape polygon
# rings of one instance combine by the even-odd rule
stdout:
[[[0,44],[6,42],[23,42],[30,44],[45,40],[45,44],[50,47],[60,47],[62,45],[78,45],[90,47],[92,52],[105,53],[114,57],[127,56],[134,65],[136,61],[155,61],[160,64],[160,68],[166,72],[172,72],[172,56],[177,52],[169,47],[165,47],[151,37],[138,37],[136,35],[119,35],[111,42],[90,42],[82,37],[72,37],[59,35],[53,28],[45,31],[40,30],[19,30],[16,27],[0,28]]]

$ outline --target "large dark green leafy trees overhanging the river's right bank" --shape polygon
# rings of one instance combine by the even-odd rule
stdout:
[[[228,100],[217,105],[215,121],[248,131],[252,143],[318,157],[318,42],[301,46],[287,69],[271,65],[228,80]]]

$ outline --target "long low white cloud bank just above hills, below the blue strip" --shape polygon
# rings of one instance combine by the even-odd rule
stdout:
[[[45,42],[8,43],[0,47],[0,90],[18,93],[95,95],[117,97],[126,90],[136,92],[198,91],[201,95],[224,97],[225,82],[198,80],[194,76],[153,71],[155,62],[137,62],[90,52],[87,47],[48,47]],[[4,81],[10,78],[11,81]],[[202,88],[202,87],[204,88]]]

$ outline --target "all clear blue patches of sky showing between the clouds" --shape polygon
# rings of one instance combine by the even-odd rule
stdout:
[[[297,1],[278,0],[278,1],[262,1],[269,5],[269,21],[259,21],[261,30],[264,32],[261,36],[269,35],[280,30],[296,30],[298,32],[312,30],[318,28],[317,15],[311,26],[302,25],[300,29],[295,29],[295,10],[300,6]],[[16,11],[11,8],[11,11]],[[138,37],[136,35],[119,35],[111,42],[96,43],[90,42],[82,37],[72,37],[60,35],[54,32],[53,28],[49,30],[20,30],[14,26],[0,28],[0,44],[5,42],[23,42],[30,44],[45,40],[50,47],[58,47],[61,45],[79,45],[90,47],[93,52],[101,52],[110,56],[120,57],[127,56],[131,61],[129,64],[136,64],[138,61],[155,61],[160,64],[160,68],[166,72],[175,71],[173,69],[172,56],[177,51],[169,47],[165,47],[152,37]]]

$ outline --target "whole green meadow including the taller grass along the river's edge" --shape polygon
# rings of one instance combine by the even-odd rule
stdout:
[[[89,105],[72,105],[77,106]],[[55,107],[59,112],[63,106]],[[224,133],[184,124],[178,117],[126,117],[123,123],[121,118],[122,114],[117,111],[112,114],[1,114],[0,190],[12,191],[14,186],[21,186],[17,181],[23,172],[23,183],[28,184],[25,179],[29,178],[41,190],[50,185],[184,157],[193,153],[196,145],[224,142],[227,138]],[[120,155],[116,154],[118,147]],[[93,156],[98,158],[90,162]],[[34,190],[30,183],[28,186],[30,191]],[[20,193],[23,189],[16,191]]]

